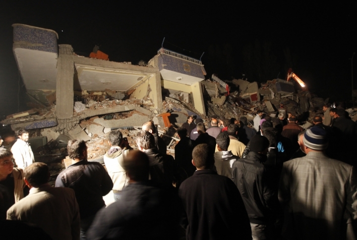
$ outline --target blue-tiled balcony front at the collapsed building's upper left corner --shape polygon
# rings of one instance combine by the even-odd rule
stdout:
[[[52,30],[39,29],[22,24],[12,25],[13,41],[27,43],[21,48],[48,51],[58,54],[57,34]]]

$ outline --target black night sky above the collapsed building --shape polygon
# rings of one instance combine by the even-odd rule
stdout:
[[[13,23],[55,30],[58,43],[72,45],[78,54],[89,55],[99,44],[112,61],[133,64],[152,58],[165,37],[164,48],[195,58],[205,52],[206,78],[217,73],[221,79],[231,80],[244,73],[249,81],[266,82],[279,72],[284,79],[287,68],[292,67],[318,96],[350,99],[349,58],[357,51],[357,1],[294,2],[2,1],[0,115],[27,109],[21,81],[19,97],[17,94]],[[262,79],[257,79],[259,71],[252,71],[245,57],[257,46],[270,46],[262,67],[272,62],[276,66],[268,67]],[[284,49],[290,50],[289,59]],[[354,60],[356,66],[357,57]]]

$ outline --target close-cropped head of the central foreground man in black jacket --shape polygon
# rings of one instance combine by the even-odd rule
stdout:
[[[192,151],[192,164],[200,169],[209,169],[214,164],[213,155],[210,154],[208,144],[198,144]]]

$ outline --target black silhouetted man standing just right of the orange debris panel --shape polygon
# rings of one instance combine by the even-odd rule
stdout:
[[[185,170],[187,176],[191,177],[192,174],[196,171],[196,168],[191,163],[193,141],[186,137],[187,129],[184,127],[178,128],[177,133],[179,135],[180,141],[175,146],[175,160],[179,163],[179,166]]]

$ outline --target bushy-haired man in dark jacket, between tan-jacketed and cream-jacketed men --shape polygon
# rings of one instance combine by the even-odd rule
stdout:
[[[102,164],[87,160],[87,146],[83,140],[70,140],[67,151],[72,165],[57,177],[56,187],[74,190],[80,212],[80,236],[85,239],[95,214],[105,206],[103,196],[113,189],[113,182]]]

